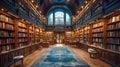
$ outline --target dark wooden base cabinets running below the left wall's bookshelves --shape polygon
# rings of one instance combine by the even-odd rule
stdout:
[[[32,52],[36,51],[37,49],[39,49],[39,46],[40,46],[40,43],[37,43],[34,45],[29,45],[29,46],[11,50],[5,53],[1,53],[0,67],[9,67],[14,63],[13,57],[19,56],[19,55],[27,56]]]

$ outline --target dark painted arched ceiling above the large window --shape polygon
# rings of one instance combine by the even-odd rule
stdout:
[[[77,10],[84,4],[86,0],[34,0],[38,4],[39,10],[42,11],[42,14],[46,15],[49,9],[53,6],[67,6],[68,9],[72,12],[72,15],[77,13]]]

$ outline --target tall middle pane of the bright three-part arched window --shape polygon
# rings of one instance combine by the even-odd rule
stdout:
[[[55,25],[64,25],[64,12],[55,12]]]

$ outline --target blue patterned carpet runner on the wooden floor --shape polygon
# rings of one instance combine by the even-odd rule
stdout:
[[[90,67],[70,47],[49,47],[31,67]]]

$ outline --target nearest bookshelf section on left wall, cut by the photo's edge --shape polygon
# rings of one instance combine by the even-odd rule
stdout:
[[[14,49],[14,32],[13,19],[8,15],[0,13],[0,53]]]

